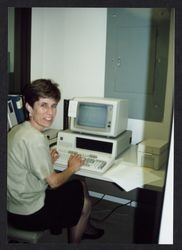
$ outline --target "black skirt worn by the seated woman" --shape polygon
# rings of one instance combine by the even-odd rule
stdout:
[[[61,231],[64,227],[76,225],[81,216],[84,202],[83,186],[79,180],[72,180],[56,189],[47,189],[45,205],[31,215],[17,215],[8,212],[8,222],[25,230]]]

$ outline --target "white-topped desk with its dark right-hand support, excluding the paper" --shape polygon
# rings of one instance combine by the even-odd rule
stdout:
[[[126,162],[136,165],[137,146],[131,145],[116,162]],[[114,164],[107,172],[112,171],[116,167],[117,164]],[[60,166],[56,165],[55,169],[58,171],[61,170]],[[144,168],[142,169],[144,170]],[[105,175],[97,175],[82,170],[76,173],[76,176],[85,178],[89,191],[100,192],[111,195],[114,198],[136,202],[136,206],[131,207],[131,209],[134,209],[134,219],[131,229],[133,241],[130,243],[158,243],[165,169],[148,169],[148,171],[157,175],[159,180],[144,184],[142,188],[135,188],[129,192],[113,184],[113,181]]]

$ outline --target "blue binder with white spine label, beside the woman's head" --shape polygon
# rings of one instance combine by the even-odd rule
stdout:
[[[25,121],[23,97],[21,95],[8,95],[8,100],[11,100],[13,103],[17,122],[21,123],[21,122]]]

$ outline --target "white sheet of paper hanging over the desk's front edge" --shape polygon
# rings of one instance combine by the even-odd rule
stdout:
[[[151,173],[150,169],[124,161],[115,163],[103,176],[111,179],[127,192],[160,179]]]

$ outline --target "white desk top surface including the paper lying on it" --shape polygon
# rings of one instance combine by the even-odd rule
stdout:
[[[60,165],[54,166],[55,170],[63,170]],[[104,174],[95,174],[79,170],[77,175],[98,180],[115,182],[117,185],[130,191],[137,187],[149,189],[162,189],[165,180],[165,169],[154,170],[137,166],[137,145],[131,145],[114,162],[112,167]]]

